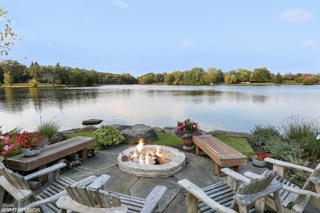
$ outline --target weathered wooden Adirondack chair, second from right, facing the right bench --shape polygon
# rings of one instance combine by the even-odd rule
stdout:
[[[248,179],[228,168],[221,170],[227,177],[227,184],[223,182],[200,189],[188,180],[178,181],[188,193],[185,203],[188,213],[247,213],[255,204],[258,213],[263,213],[261,201],[269,194],[274,195],[276,212],[283,213],[279,191],[282,184],[273,180],[276,173],[268,173],[259,179]],[[244,182],[238,186],[238,181]],[[237,187],[238,186],[238,187]]]

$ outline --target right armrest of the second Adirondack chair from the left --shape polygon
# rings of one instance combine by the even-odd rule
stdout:
[[[166,187],[154,187],[150,194],[146,197],[145,204],[140,213],[153,213],[166,190]]]

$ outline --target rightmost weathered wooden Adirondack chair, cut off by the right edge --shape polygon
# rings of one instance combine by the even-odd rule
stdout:
[[[278,173],[275,178],[278,182],[283,184],[280,195],[285,213],[302,213],[307,203],[320,210],[320,164],[314,170],[312,170],[307,167],[290,164],[272,158],[265,158],[264,161],[273,164],[273,171]],[[293,183],[290,183],[283,178],[284,167],[294,168],[311,173],[302,189],[299,189]],[[268,172],[269,171],[266,171],[262,175],[265,175]],[[251,172],[245,172],[244,176],[249,178],[259,177],[259,175]],[[316,193],[311,191],[313,185],[315,186]],[[275,208],[271,195],[267,197],[265,204],[272,209]]]

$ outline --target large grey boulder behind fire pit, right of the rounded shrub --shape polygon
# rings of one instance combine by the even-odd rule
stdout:
[[[144,139],[144,142],[156,140],[158,136],[155,131],[149,126],[143,124],[136,124],[133,126],[119,126],[119,131],[125,138],[125,144],[134,144],[139,141],[140,138]]]

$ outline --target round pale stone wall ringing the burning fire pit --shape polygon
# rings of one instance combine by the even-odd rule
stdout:
[[[142,150],[156,150],[157,145],[145,145]],[[118,167],[122,172],[130,175],[135,175],[137,177],[144,178],[160,178],[160,177],[170,177],[174,174],[180,172],[185,167],[185,155],[177,149],[159,146],[160,152],[167,155],[170,160],[169,163],[161,165],[142,165],[137,164],[132,161],[122,162],[121,158],[123,155],[128,155],[133,152],[135,147],[124,150],[118,155]]]

